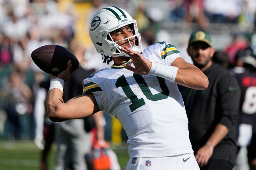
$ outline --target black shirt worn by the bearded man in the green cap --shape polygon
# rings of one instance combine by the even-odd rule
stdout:
[[[188,115],[192,148],[196,154],[212,135],[216,125],[223,124],[228,128],[228,134],[214,147],[210,159],[223,159],[234,163],[240,88],[236,77],[219,64],[213,63],[204,74],[209,79],[206,90],[194,90],[179,85]]]

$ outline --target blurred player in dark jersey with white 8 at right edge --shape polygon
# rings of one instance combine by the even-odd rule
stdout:
[[[256,53],[247,47],[237,52],[233,72],[241,88],[238,146],[235,170],[256,169]],[[247,150],[247,154],[246,154]],[[247,158],[247,159],[246,159]],[[249,167],[248,167],[249,164]]]

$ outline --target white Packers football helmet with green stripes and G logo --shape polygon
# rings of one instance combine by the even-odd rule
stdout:
[[[98,53],[112,57],[128,56],[120,50],[121,47],[117,44],[119,41],[114,42],[110,36],[112,31],[127,25],[130,25],[133,36],[120,41],[128,40],[130,43],[129,39],[135,37],[136,45],[132,47],[130,43],[131,49],[139,52],[142,45],[136,20],[116,6],[108,6],[97,11],[92,17],[89,34]]]

